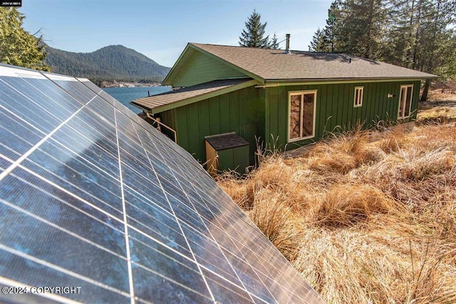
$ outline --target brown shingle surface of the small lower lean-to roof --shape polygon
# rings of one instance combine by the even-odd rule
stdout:
[[[192,85],[191,87],[181,88],[178,90],[172,90],[150,97],[138,98],[131,102],[132,105],[139,105],[140,108],[147,110],[167,105],[169,103],[176,103],[181,100],[188,100],[195,98],[199,95],[206,95],[208,93],[222,90],[225,88],[232,87],[233,85],[239,85],[252,79],[224,79],[224,80],[213,80],[208,83],[202,83],[199,85]]]

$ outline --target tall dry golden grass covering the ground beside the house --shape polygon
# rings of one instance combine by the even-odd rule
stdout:
[[[456,303],[456,126],[353,130],[219,181],[328,303]]]

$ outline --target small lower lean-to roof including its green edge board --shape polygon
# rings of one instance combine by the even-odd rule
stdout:
[[[172,108],[175,108],[177,106],[174,105],[175,103],[187,105],[205,98],[210,98],[211,93],[215,95],[229,93],[239,88],[254,85],[255,83],[257,83],[257,80],[252,81],[251,78],[213,80],[208,83],[192,85],[191,87],[172,90],[150,97],[138,98],[130,103],[144,110],[155,109],[154,112],[162,112],[163,110],[167,110],[166,106],[171,103],[173,104]]]

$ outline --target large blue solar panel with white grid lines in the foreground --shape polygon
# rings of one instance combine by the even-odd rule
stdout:
[[[0,65],[0,91],[0,302],[323,303],[189,153],[90,81]]]

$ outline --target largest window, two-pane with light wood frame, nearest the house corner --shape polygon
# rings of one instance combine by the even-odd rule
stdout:
[[[315,136],[316,90],[289,93],[289,142]]]

